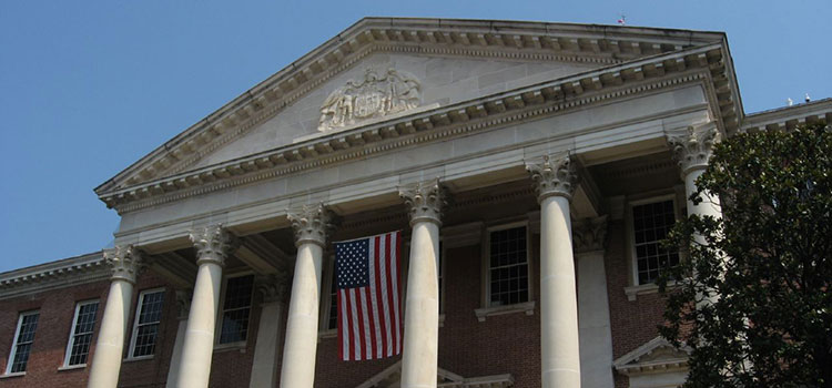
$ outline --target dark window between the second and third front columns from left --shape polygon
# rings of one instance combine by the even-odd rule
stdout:
[[[253,289],[253,275],[226,278],[220,344],[241,343],[247,338]]]

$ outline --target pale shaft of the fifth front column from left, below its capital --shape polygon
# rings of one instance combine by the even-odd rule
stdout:
[[[540,210],[542,387],[580,387],[578,305],[569,200],[548,196]]]

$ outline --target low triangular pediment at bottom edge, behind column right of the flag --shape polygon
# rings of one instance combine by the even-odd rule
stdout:
[[[397,361],[356,388],[399,388],[402,380],[402,361]],[[436,386],[438,388],[508,388],[514,387],[511,375],[494,375],[466,378],[449,370],[437,368]]]

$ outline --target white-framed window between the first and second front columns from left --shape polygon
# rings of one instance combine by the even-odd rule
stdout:
[[[139,294],[128,358],[153,356],[156,348],[159,323],[162,320],[163,304],[163,289],[149,289]]]

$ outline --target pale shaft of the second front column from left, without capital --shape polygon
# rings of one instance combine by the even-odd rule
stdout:
[[[200,264],[185,328],[185,343],[176,378],[177,388],[209,386],[221,283],[222,266],[213,261]]]

